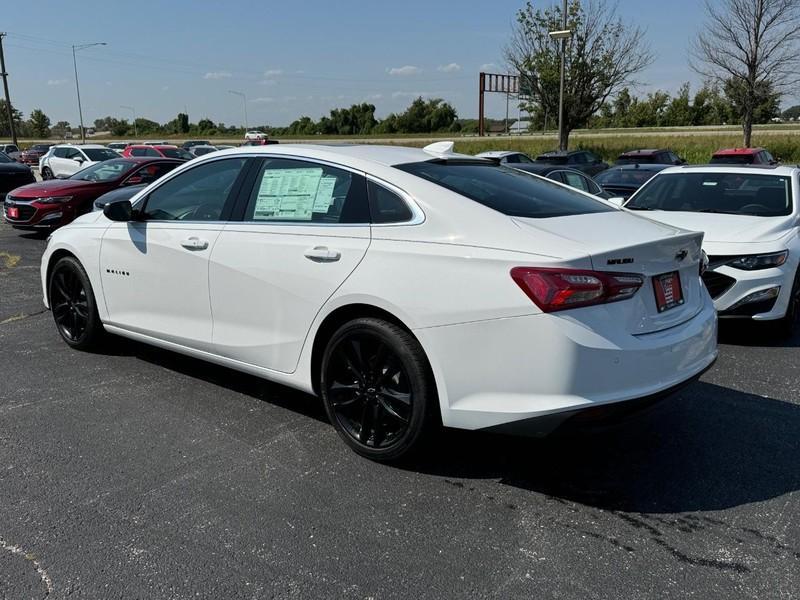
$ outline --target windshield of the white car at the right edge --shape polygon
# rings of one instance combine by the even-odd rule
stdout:
[[[785,175],[760,173],[660,175],[641,188],[625,208],[784,216],[792,213],[792,182]]]

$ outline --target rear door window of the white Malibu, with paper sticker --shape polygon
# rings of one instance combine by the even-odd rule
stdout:
[[[245,221],[369,223],[364,177],[327,165],[267,158],[256,176]]]

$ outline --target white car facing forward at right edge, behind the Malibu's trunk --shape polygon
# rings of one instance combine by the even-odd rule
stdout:
[[[800,169],[684,166],[661,171],[625,208],[705,233],[706,287],[723,318],[800,320]]]

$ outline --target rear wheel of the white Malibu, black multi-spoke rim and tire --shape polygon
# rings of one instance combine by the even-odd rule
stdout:
[[[333,334],[322,357],[320,392],[342,439],[375,461],[412,456],[437,422],[422,346],[383,319],[355,319]]]

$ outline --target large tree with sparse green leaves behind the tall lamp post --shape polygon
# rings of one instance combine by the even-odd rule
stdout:
[[[535,9],[532,2],[516,15],[506,61],[530,80],[533,103],[548,115],[559,107],[562,47],[565,59],[564,122],[559,146],[566,149],[569,133],[589,122],[608,98],[652,62],[644,31],[624,22],[616,5],[606,0],[570,0],[567,29],[572,37],[562,46],[549,32],[563,29],[560,4]]]

